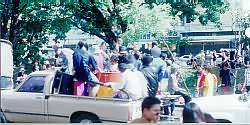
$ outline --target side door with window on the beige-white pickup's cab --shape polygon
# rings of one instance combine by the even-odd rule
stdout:
[[[13,122],[46,122],[44,83],[46,76],[30,76],[8,99]],[[10,108],[11,107],[11,108]]]

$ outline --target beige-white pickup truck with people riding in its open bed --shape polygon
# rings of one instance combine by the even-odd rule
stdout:
[[[31,73],[18,87],[1,91],[9,122],[126,123],[141,116],[142,100],[53,94],[55,71]]]

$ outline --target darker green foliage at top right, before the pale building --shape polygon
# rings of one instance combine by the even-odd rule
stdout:
[[[146,0],[147,4],[169,3],[172,7],[171,14],[179,17],[185,22],[193,22],[196,19],[202,25],[206,25],[209,21],[221,27],[220,14],[225,13],[229,9],[227,0]]]

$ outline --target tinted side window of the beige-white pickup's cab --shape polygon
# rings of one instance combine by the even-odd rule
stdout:
[[[32,76],[18,89],[18,92],[43,93],[45,76]]]

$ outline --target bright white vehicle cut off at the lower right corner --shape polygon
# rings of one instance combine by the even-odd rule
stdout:
[[[233,94],[195,98],[202,111],[221,123],[250,123],[249,95]]]

